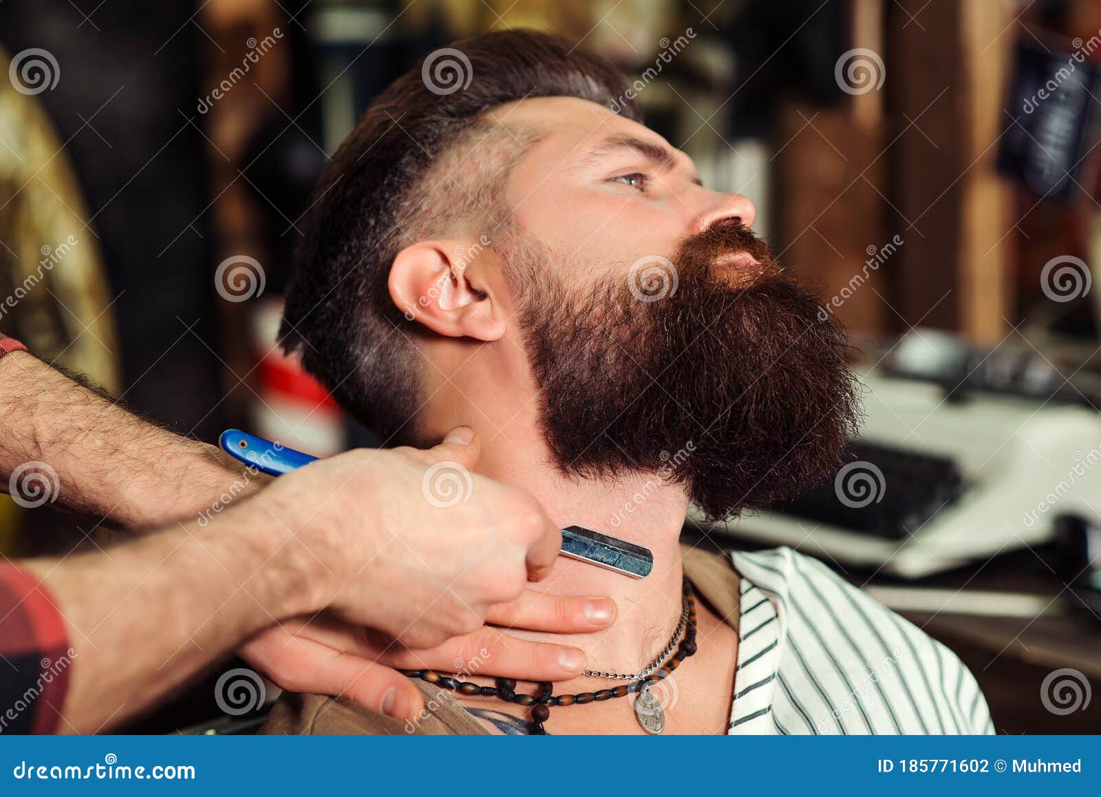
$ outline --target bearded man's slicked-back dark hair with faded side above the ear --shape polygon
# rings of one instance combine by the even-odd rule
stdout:
[[[422,364],[412,321],[389,294],[390,266],[403,247],[461,231],[456,225],[492,201],[486,190],[508,176],[519,139],[486,112],[531,97],[577,97],[642,121],[619,70],[560,36],[502,31],[451,47],[469,64],[455,62],[468,85],[440,94],[428,62],[424,77],[417,64],[371,103],[326,164],[303,221],[280,329],[284,349],[301,352],[306,370],[384,445],[421,443],[412,422]],[[471,141],[475,131],[481,138]],[[510,148],[511,160],[493,160]],[[464,150],[478,154],[451,176],[445,165]]]

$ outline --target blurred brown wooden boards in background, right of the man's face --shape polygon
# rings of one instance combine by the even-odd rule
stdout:
[[[858,345],[912,325],[996,342],[1013,306],[1011,189],[994,172],[1017,35],[1011,10],[850,0],[849,29],[849,48],[882,59],[882,86],[837,108],[787,103],[777,132],[784,259],[841,298],[831,309]]]

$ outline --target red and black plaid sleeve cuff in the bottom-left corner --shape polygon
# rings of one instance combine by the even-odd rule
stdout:
[[[0,564],[0,735],[57,730],[75,656],[45,587]]]

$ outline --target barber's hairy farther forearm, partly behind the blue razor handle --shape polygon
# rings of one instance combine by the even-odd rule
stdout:
[[[13,352],[0,359],[4,491],[12,471],[31,461],[57,473],[56,503],[130,529],[194,520],[265,479],[235,467],[215,447],[150,424],[34,357]]]

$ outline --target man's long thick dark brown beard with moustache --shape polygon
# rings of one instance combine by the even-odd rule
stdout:
[[[859,419],[844,330],[819,320],[814,293],[746,228],[688,239],[676,290],[657,301],[640,301],[626,274],[569,288],[547,252],[515,243],[510,279],[563,472],[656,472],[722,517],[836,468]],[[739,251],[761,268],[712,268]]]

